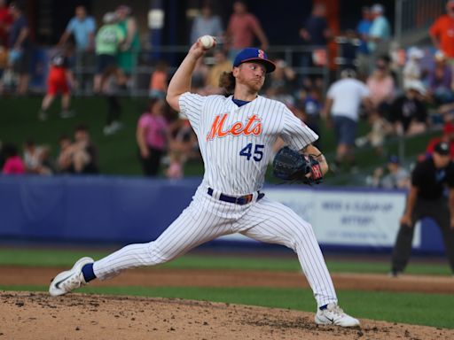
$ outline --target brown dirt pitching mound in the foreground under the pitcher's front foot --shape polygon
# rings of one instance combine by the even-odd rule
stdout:
[[[313,313],[182,299],[0,292],[0,339],[421,339],[454,330],[362,320],[318,327]]]

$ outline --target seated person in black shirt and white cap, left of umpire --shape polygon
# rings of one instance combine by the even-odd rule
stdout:
[[[421,81],[409,81],[403,96],[395,99],[389,120],[397,135],[416,135],[427,130],[427,108],[421,100],[425,93]]]

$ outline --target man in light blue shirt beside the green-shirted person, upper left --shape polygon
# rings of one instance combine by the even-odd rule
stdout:
[[[95,48],[95,19],[87,15],[87,10],[80,5],[75,7],[75,16],[70,19],[67,24],[67,29],[61,35],[59,40],[60,45],[64,45],[68,38],[73,35],[75,42],[75,50],[78,57],[82,57],[85,52],[94,50]]]

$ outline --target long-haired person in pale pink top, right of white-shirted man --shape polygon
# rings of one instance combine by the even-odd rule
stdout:
[[[395,97],[395,81],[385,60],[377,60],[375,70],[367,78],[366,83],[371,92],[373,107],[386,117]]]

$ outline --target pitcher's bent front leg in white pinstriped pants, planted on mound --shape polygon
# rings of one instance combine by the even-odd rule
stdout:
[[[243,235],[266,243],[283,244],[297,253],[318,306],[337,303],[331,275],[308,222],[287,206],[266,197],[241,221],[246,226],[241,230]]]

